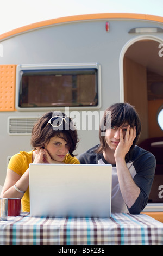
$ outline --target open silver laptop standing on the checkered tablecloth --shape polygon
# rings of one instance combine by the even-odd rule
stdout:
[[[30,164],[30,216],[111,217],[110,164]]]

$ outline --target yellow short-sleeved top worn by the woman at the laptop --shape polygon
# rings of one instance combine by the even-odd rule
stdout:
[[[8,168],[13,170],[18,175],[22,176],[24,172],[29,168],[29,164],[32,163],[32,153],[34,150],[25,152],[20,151],[20,153],[15,154],[11,157],[8,164]],[[63,161],[66,164],[80,164],[79,160],[76,157],[72,157],[70,154],[65,156]],[[21,199],[22,210],[30,212],[30,199],[29,199],[29,187],[27,188],[26,193]]]

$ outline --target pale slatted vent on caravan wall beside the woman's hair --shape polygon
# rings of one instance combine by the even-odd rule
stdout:
[[[10,135],[30,135],[38,118],[9,117],[8,133]]]

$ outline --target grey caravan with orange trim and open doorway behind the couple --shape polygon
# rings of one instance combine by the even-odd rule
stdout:
[[[0,46],[0,185],[10,157],[31,149],[33,124],[47,110],[67,111],[76,120],[80,154],[99,143],[104,110],[129,102],[141,118],[139,145],[157,161],[145,211],[162,212],[163,18],[64,17],[2,34]]]

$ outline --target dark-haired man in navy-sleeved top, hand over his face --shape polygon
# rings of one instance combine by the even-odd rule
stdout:
[[[139,214],[148,203],[155,173],[155,157],[136,146],[139,116],[128,103],[116,103],[106,109],[101,124],[100,144],[78,159],[81,164],[112,164],[112,212]]]

